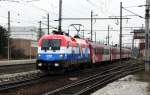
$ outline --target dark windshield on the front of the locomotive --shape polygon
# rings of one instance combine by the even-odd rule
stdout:
[[[42,50],[60,50],[60,40],[42,40]]]

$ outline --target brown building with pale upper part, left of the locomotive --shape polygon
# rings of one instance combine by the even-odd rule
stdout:
[[[10,58],[29,59],[36,58],[37,54],[36,27],[11,27]]]

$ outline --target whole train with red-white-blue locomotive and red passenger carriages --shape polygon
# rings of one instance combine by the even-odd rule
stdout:
[[[122,48],[122,59],[131,57],[131,49]],[[79,37],[51,34],[38,41],[36,67],[40,70],[68,70],[120,59],[120,48]]]

